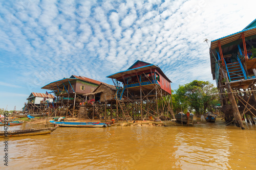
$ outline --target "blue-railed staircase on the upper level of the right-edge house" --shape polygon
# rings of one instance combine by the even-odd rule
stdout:
[[[244,68],[240,60],[238,62],[226,64],[227,74],[230,81],[247,79]]]

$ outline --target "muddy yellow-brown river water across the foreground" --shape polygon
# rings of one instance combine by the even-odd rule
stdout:
[[[41,125],[11,128],[30,127]],[[256,169],[256,127],[245,127],[222,120],[194,127],[59,127],[48,135],[9,138],[8,167],[2,138],[0,168]]]

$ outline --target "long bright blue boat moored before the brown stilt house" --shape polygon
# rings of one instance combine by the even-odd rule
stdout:
[[[50,123],[62,127],[86,127],[86,128],[105,128],[110,127],[110,124],[105,123],[89,123],[89,122],[55,122],[50,120]]]

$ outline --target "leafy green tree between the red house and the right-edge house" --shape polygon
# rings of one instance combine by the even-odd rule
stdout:
[[[213,111],[214,107],[219,103],[218,90],[210,82],[194,80],[185,85],[180,85],[172,95],[174,112],[186,112],[194,110],[195,114],[200,115],[206,110]]]

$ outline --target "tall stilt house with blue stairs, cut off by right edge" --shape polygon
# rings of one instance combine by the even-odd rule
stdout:
[[[256,19],[240,32],[211,41],[211,74],[219,90],[227,125],[255,125]]]

